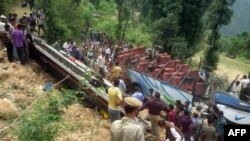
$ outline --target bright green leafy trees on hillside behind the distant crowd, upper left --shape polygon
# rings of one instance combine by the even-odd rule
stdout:
[[[84,30],[87,35],[92,29],[107,33],[112,40],[151,45],[150,28],[140,19],[139,0],[38,0],[38,2],[46,13],[48,33],[46,38],[49,43],[54,42],[57,37],[62,37],[63,40],[74,37],[79,41],[80,31]]]

